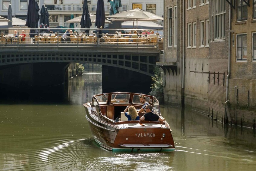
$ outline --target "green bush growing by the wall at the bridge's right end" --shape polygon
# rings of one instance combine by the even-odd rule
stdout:
[[[154,83],[151,85],[151,92],[149,93],[151,96],[155,96],[157,100],[162,102],[164,100],[164,84],[163,84],[163,70],[156,66],[154,68],[154,77],[152,80]]]

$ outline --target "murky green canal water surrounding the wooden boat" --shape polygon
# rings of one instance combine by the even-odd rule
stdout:
[[[169,105],[161,112],[174,152],[105,150],[93,140],[83,107],[102,93],[101,71],[86,71],[59,90],[59,98],[54,90],[54,98],[40,92],[1,101],[0,170],[256,170],[252,129],[226,128],[206,114]]]

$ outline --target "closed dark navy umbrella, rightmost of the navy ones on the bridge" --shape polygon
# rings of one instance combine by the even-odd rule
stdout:
[[[97,2],[97,9],[96,9],[96,22],[95,26],[97,28],[104,28],[105,25],[105,9],[104,9],[104,2],[103,0],[98,0]],[[99,30],[99,37],[102,37],[102,31]]]

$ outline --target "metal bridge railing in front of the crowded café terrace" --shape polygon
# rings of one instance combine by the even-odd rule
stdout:
[[[66,28],[65,28],[66,29]],[[91,29],[92,30],[92,29]],[[65,30],[64,30],[65,31]],[[163,42],[162,30],[148,31],[131,29],[98,29],[91,31],[86,28],[11,28],[0,35],[0,48],[13,46],[116,46],[116,47],[148,47],[158,48]],[[87,33],[86,33],[87,32]],[[109,32],[114,32],[110,34]]]

